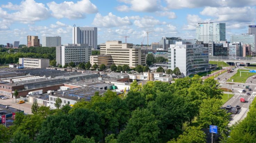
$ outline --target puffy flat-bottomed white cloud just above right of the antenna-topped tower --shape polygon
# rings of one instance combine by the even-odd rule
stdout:
[[[92,24],[97,27],[120,27],[124,25],[132,25],[132,22],[130,22],[127,16],[118,17],[112,13],[102,16],[100,13],[97,13]]]

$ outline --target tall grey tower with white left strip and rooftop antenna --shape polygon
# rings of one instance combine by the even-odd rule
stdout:
[[[73,27],[73,44],[88,44],[97,49],[97,27]]]

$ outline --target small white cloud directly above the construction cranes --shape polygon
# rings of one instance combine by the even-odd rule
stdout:
[[[144,16],[140,20],[135,20],[134,25],[139,28],[153,28],[155,25],[166,24],[166,22],[160,22],[151,16]]]

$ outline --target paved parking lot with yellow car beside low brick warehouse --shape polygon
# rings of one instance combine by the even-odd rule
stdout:
[[[18,101],[18,99],[17,99]],[[15,99],[14,99],[15,102]],[[31,104],[28,104],[28,102],[23,103],[23,104],[18,104],[18,103],[13,103],[12,98],[8,99],[0,99],[0,104],[5,105],[5,106],[10,106],[19,110],[23,110],[25,114],[32,114],[31,113]]]

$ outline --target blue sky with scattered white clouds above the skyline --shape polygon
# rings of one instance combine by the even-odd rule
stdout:
[[[165,37],[195,39],[200,22],[225,22],[226,39],[256,24],[256,0],[0,0],[0,44],[27,35],[60,36],[72,43],[72,27],[97,27],[107,40],[149,44]]]

